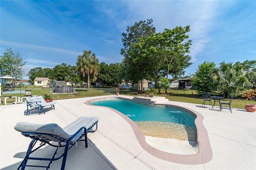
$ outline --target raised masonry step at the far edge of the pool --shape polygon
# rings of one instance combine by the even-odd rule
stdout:
[[[154,105],[157,103],[163,103],[168,101],[165,97],[134,97],[132,99],[134,103],[143,104],[143,105]]]

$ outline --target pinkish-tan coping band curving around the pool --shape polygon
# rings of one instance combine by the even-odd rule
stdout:
[[[209,136],[207,134],[207,131],[203,125],[203,119],[204,116],[199,114],[198,112],[194,111],[193,109],[181,107],[177,105],[172,104],[154,104],[154,105],[162,105],[162,106],[172,106],[172,107],[178,107],[181,109],[185,109],[190,113],[193,113],[195,118],[195,125],[196,125],[196,131],[197,131],[197,143],[198,143],[198,152],[193,155],[180,155],[180,154],[172,154],[170,152],[165,152],[159,149],[156,149],[152,146],[150,146],[146,142],[145,135],[141,132],[139,126],[131,120],[128,116],[125,114],[117,111],[116,109],[113,109],[111,107],[106,106],[97,106],[97,105],[91,105],[90,103],[94,100],[101,100],[101,99],[107,99],[107,98],[120,98],[120,99],[126,99],[126,100],[132,100],[129,98],[124,98],[120,96],[111,96],[111,97],[102,97],[102,98],[96,98],[96,99],[90,99],[85,101],[86,105],[93,106],[93,107],[102,107],[102,108],[108,108],[111,111],[117,113],[119,116],[123,117],[126,122],[128,122],[133,132],[135,133],[135,136],[140,143],[140,146],[145,149],[149,154],[163,160],[167,160],[169,162],[173,163],[179,163],[179,164],[187,164],[187,165],[197,165],[197,164],[204,164],[209,162],[212,159],[212,149],[210,145]]]

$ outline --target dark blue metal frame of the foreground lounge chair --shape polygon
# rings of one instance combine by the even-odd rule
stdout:
[[[93,130],[94,125],[96,125],[96,129]],[[93,133],[97,131],[98,129],[98,121],[93,123],[90,128],[86,129],[85,127],[80,128],[75,134],[73,134],[68,140],[63,139],[57,135],[49,134],[49,133],[33,133],[33,132],[22,132],[22,135],[25,135],[25,137],[29,137],[33,139],[28,147],[27,153],[23,161],[21,162],[20,166],[18,167],[18,170],[21,168],[21,170],[24,170],[25,167],[41,167],[41,168],[46,168],[49,169],[51,163],[54,160],[58,160],[63,157],[62,159],[62,164],[61,164],[61,170],[65,169],[66,165],[66,160],[67,160],[67,155],[68,155],[68,150],[73,147],[77,141],[85,141],[85,148],[88,147],[88,142],[87,142],[87,133]],[[71,142],[78,133],[84,130],[84,133],[81,134],[81,136],[75,141]],[[84,139],[82,139],[84,137]],[[37,148],[33,150],[33,148],[36,145],[36,142],[40,141],[42,142]],[[58,145],[53,145],[50,142],[58,142]],[[62,145],[62,143],[66,143],[65,145]],[[29,157],[30,154],[32,154],[34,151],[37,149],[41,148],[42,146],[45,146],[46,144],[55,147],[56,150],[52,156],[52,158],[39,158],[39,157]],[[65,151],[63,154],[61,154],[59,157],[55,158],[55,155],[57,154],[57,151],[60,147],[65,147]],[[50,163],[47,166],[39,166],[39,165],[27,165],[28,160],[45,160],[45,161],[50,161]]]

